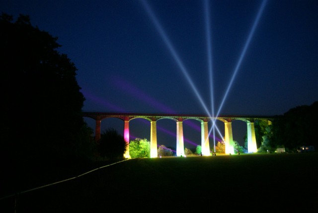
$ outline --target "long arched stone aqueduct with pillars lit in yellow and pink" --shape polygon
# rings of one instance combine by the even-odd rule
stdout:
[[[95,140],[100,140],[100,124],[106,118],[119,118],[124,121],[124,139],[128,143],[128,149],[125,157],[129,158],[129,121],[136,118],[143,118],[151,123],[150,144],[151,144],[151,157],[158,157],[157,152],[157,121],[160,119],[172,119],[176,122],[176,154],[177,156],[184,156],[184,143],[183,143],[183,127],[182,122],[187,119],[195,119],[201,122],[201,149],[203,155],[210,154],[209,145],[209,130],[208,122],[211,120],[220,120],[224,122],[225,126],[225,147],[226,154],[234,153],[233,134],[232,134],[232,121],[241,120],[246,122],[247,125],[247,149],[248,152],[256,152],[256,139],[255,139],[255,120],[266,120],[271,122],[273,116],[218,116],[208,117],[206,115],[184,115],[184,114],[155,114],[155,113],[111,113],[111,112],[83,112],[82,117],[92,118],[96,122],[95,127]]]

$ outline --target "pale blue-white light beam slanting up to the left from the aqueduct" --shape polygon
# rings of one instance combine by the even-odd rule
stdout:
[[[141,2],[143,3],[143,6],[145,8],[145,10],[147,11],[148,15],[150,16],[151,20],[154,22],[154,25],[156,27],[156,29],[158,30],[161,38],[163,39],[164,43],[166,44],[166,47],[168,48],[168,50],[170,51],[173,59],[175,60],[175,62],[177,63],[177,65],[179,66],[180,70],[182,71],[183,75],[185,76],[185,78],[187,79],[188,83],[190,84],[193,92],[196,94],[196,97],[199,99],[202,107],[204,108],[204,110],[206,111],[206,113],[211,117],[209,110],[207,109],[201,95],[199,94],[199,91],[197,90],[196,86],[194,85],[191,77],[189,76],[188,71],[186,70],[185,66],[183,65],[180,57],[178,56],[178,54],[176,53],[173,45],[171,44],[168,36],[166,35],[166,33],[164,32],[162,26],[160,25],[157,17],[155,16],[154,12],[152,11],[152,9],[150,8],[149,4],[147,3],[146,0],[141,0]]]

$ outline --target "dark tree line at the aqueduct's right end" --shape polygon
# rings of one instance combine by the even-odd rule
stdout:
[[[298,152],[301,146],[318,147],[318,101],[302,105],[276,116],[272,122],[255,123],[259,152],[275,152],[283,147],[287,152]]]

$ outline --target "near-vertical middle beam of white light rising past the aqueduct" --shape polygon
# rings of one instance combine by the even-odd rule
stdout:
[[[214,117],[214,91],[213,91],[213,61],[212,61],[212,36],[210,30],[210,5],[209,1],[204,1],[204,14],[205,14],[205,26],[206,26],[206,40],[207,40],[207,57],[208,57],[208,69],[209,69],[209,80],[210,80],[210,95],[211,95],[211,110],[212,117]],[[211,116],[210,116],[211,117]],[[214,123],[214,120],[213,120]],[[215,125],[212,125],[213,135],[215,135]],[[210,135],[210,134],[209,134]],[[213,137],[214,151],[215,151],[215,138]]]

